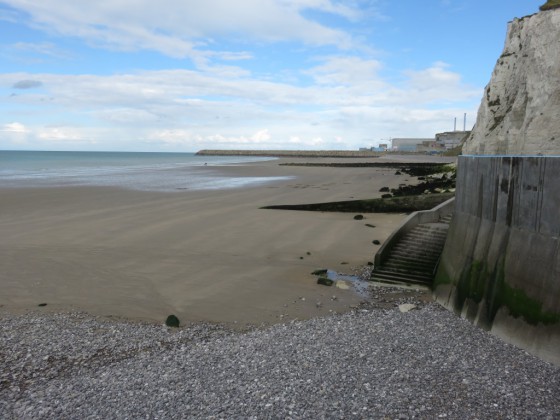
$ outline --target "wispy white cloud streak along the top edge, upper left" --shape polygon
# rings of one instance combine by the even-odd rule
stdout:
[[[28,13],[30,24],[39,29],[96,46],[155,50],[177,58],[204,56],[204,45],[224,35],[349,48],[354,43],[349,34],[305,18],[302,12],[312,9],[349,19],[359,15],[357,8],[332,0],[111,0],[86,7],[65,0],[5,3]]]

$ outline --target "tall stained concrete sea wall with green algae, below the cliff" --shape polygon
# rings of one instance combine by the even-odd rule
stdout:
[[[560,157],[462,156],[436,298],[560,365]]]

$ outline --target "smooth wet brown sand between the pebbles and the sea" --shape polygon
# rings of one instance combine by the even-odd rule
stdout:
[[[232,176],[292,177],[228,190],[0,189],[1,307],[46,303],[41,310],[155,322],[173,313],[183,324],[238,326],[349,310],[363,297],[317,285],[311,273],[366,265],[378,249],[372,241],[383,242],[405,215],[357,221],[259,208],[378,197],[407,176],[279,165],[288,161],[298,159],[222,167]]]

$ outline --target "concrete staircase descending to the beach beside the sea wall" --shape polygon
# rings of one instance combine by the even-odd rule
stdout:
[[[401,235],[375,266],[371,280],[431,286],[447,238],[451,214],[420,223]]]

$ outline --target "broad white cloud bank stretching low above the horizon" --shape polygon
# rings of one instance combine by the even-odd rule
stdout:
[[[196,150],[282,148],[289,142],[301,148],[355,149],[382,136],[433,136],[448,130],[463,112],[474,116],[482,94],[443,63],[405,72],[404,81],[395,84],[381,76],[382,65],[375,60],[321,60],[304,70],[313,78],[306,86],[244,74],[224,79],[203,70],[0,74],[4,86],[42,82],[41,95],[18,90],[15,97],[0,98],[0,106],[12,109],[14,120],[35,127],[24,137],[42,144],[96,141],[114,148],[122,142],[125,150],[137,141],[148,148]],[[37,111],[18,113],[25,105]],[[56,126],[34,120],[34,115],[47,114]]]

